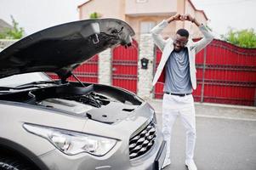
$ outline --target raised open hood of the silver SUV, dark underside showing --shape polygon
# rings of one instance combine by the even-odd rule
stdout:
[[[79,20],[38,31],[0,53],[0,78],[48,71],[62,80],[94,54],[119,44],[130,46],[134,30],[122,20]]]

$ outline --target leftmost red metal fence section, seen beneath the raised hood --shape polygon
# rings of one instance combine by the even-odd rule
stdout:
[[[88,59],[85,63],[78,66],[73,71],[73,74],[81,80],[81,82],[98,82],[98,55],[94,55],[91,59]],[[53,79],[59,79],[55,74],[48,73]],[[74,77],[68,78],[69,81],[77,81]]]

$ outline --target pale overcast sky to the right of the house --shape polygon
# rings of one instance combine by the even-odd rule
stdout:
[[[228,28],[253,28],[256,31],[256,0],[191,0],[197,9],[207,14],[208,25],[214,35],[222,35]]]

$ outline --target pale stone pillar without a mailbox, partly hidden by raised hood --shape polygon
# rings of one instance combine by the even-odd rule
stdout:
[[[111,48],[99,54],[98,82],[111,85]]]

